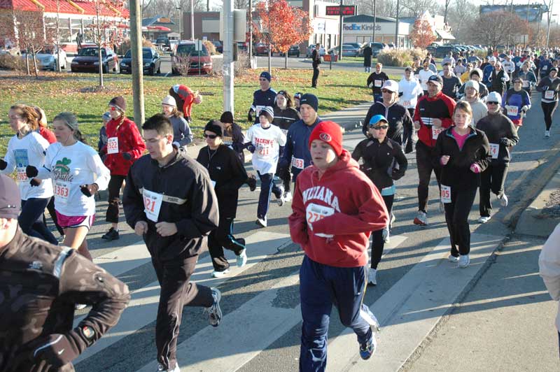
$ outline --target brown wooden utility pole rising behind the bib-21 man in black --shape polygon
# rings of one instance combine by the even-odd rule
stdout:
[[[132,51],[132,101],[134,103],[134,122],[142,133],[144,123],[144,68],[142,66],[142,10],[140,0],[129,1],[130,11],[130,50]],[[101,66],[99,66],[101,69]]]

